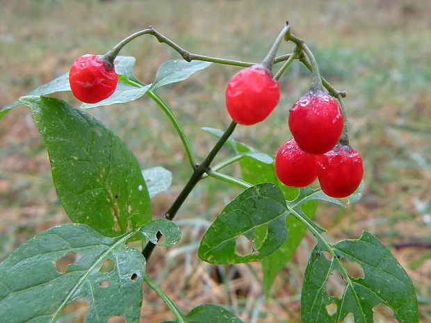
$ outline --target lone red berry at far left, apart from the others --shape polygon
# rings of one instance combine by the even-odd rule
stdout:
[[[118,76],[103,56],[86,54],[73,63],[69,82],[76,99],[96,103],[111,97],[117,88]]]

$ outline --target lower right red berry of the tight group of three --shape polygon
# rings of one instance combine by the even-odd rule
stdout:
[[[348,197],[358,188],[363,175],[361,155],[349,145],[337,144],[318,156],[320,187],[330,197]]]

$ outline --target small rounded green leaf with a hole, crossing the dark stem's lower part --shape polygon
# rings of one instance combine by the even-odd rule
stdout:
[[[165,237],[163,243],[157,242],[156,235],[159,231]],[[177,224],[174,224],[172,221],[166,219],[152,220],[152,222],[142,226],[139,229],[139,232],[142,233],[149,241],[153,242],[154,245],[159,245],[162,247],[175,245],[181,238],[181,231],[179,231]]]

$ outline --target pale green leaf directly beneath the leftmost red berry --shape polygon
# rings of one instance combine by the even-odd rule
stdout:
[[[147,90],[150,86],[151,84],[137,87],[136,85],[133,86],[119,81],[117,88],[111,97],[108,97],[108,99],[101,100],[97,103],[82,103],[81,108],[90,109],[96,108],[97,106],[111,106],[111,104],[135,101],[136,99],[143,97],[143,95],[147,93]]]

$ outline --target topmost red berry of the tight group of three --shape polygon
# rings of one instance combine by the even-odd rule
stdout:
[[[291,108],[288,126],[300,149],[320,155],[339,141],[343,115],[333,97],[323,91],[310,90]]]

